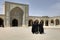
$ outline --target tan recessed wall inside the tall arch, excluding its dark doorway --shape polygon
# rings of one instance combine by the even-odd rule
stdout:
[[[10,22],[12,25],[12,20],[13,19],[18,19],[18,26],[22,26],[23,25],[23,10],[19,7],[15,7],[11,10],[10,12]]]

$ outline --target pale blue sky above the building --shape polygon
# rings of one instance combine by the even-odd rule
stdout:
[[[4,1],[29,4],[29,16],[60,16],[60,0],[0,0],[0,14]]]

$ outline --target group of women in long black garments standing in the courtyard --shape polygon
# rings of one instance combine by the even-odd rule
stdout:
[[[44,28],[43,28],[43,22],[41,21],[40,23],[36,20],[34,21],[34,23],[32,24],[32,33],[40,33],[43,34],[44,33]]]

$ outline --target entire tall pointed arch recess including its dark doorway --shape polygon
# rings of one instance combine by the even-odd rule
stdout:
[[[15,7],[10,11],[10,22],[12,26],[22,26],[23,24],[23,10],[20,7]],[[17,19],[15,19],[17,18]],[[13,20],[14,19],[14,20]]]

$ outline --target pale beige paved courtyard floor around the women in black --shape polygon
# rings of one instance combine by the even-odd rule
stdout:
[[[0,40],[60,40],[60,28],[45,28],[45,34],[32,34],[31,27],[0,28]]]

